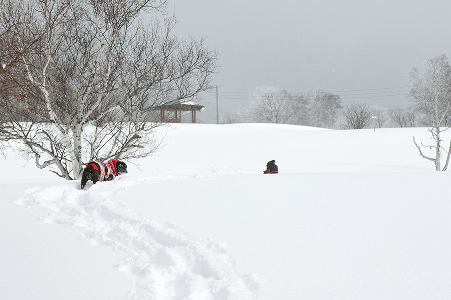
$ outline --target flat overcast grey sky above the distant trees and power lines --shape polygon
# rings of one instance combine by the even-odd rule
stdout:
[[[168,9],[180,36],[206,37],[219,52],[213,83],[224,97],[259,85],[324,88],[386,107],[408,103],[407,88],[390,88],[408,85],[411,66],[450,57],[450,12],[451,0],[171,0]]]

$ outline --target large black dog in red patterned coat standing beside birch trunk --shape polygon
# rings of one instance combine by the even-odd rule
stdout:
[[[81,179],[81,189],[84,189],[88,180],[91,180],[93,184],[97,181],[113,180],[120,174],[127,173],[127,164],[125,162],[110,159],[107,162],[91,161],[83,170]]]

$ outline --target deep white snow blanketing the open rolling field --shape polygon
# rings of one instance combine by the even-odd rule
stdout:
[[[418,155],[427,128],[159,134],[86,190],[0,159],[0,299],[449,299],[451,173]]]

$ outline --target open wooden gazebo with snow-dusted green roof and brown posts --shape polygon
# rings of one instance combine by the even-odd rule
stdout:
[[[182,111],[191,111],[191,123],[196,122],[196,111],[201,111],[205,106],[195,103],[191,100],[176,99],[155,107],[155,110],[160,111],[162,122],[181,123]],[[168,112],[168,115],[166,115]],[[175,112],[175,117],[172,112]]]

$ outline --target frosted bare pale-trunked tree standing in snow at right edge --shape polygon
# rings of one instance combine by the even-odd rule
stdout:
[[[415,67],[410,69],[410,89],[408,96],[416,103],[420,113],[426,115],[430,121],[431,128],[429,131],[434,140],[434,144],[422,144],[422,146],[433,148],[435,155],[429,157],[423,154],[421,147],[415,141],[415,137],[413,137],[413,142],[421,157],[434,162],[435,170],[446,170],[449,155],[451,154],[451,142],[447,151],[445,165],[441,168],[440,160],[442,151],[445,149],[441,145],[443,140],[440,137],[440,133],[449,128],[448,116],[451,113],[451,66],[445,54],[426,59],[424,64],[426,66],[424,73],[420,74]],[[442,126],[446,127],[442,128]]]

